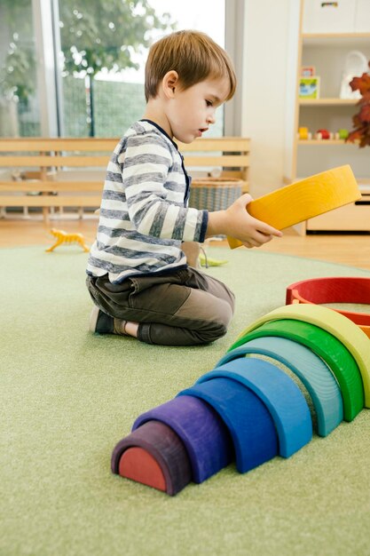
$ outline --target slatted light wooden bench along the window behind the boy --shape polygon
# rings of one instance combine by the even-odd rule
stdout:
[[[119,139],[0,138],[0,207],[97,209],[106,165]],[[179,144],[193,177],[241,179],[248,191],[249,139],[196,139]],[[34,209],[35,210],[35,209]]]

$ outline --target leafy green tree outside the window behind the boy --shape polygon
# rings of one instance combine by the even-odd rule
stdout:
[[[97,112],[107,110],[109,114],[109,105],[114,103],[114,97],[121,111],[125,109],[124,102],[132,104],[132,99],[137,99],[142,114],[144,98],[138,95],[138,87],[123,87],[120,99],[114,95],[114,81],[98,82],[96,76],[102,73],[112,76],[128,68],[138,69],[136,58],[150,46],[153,31],[161,30],[164,34],[175,28],[169,13],[158,15],[146,0],[63,0],[59,2],[59,28],[63,77],[84,78],[84,90],[82,82],[77,83],[80,84],[80,115],[84,100],[88,134],[96,135],[97,127],[100,127],[98,135],[106,134],[98,125],[102,118]],[[71,97],[68,97],[67,87],[70,85],[73,90],[77,83],[71,79],[65,79],[64,83],[67,84],[65,102],[68,102]],[[99,102],[96,102],[96,96]],[[73,97],[76,98],[75,95]],[[114,123],[114,118],[111,121]],[[103,127],[106,128],[105,125]],[[115,135],[111,126],[107,131]]]

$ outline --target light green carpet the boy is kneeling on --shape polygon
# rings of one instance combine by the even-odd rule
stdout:
[[[370,413],[294,457],[230,465],[176,497],[111,474],[140,413],[193,384],[288,284],[365,270],[258,250],[212,249],[237,296],[211,346],[156,347],[87,331],[77,246],[0,250],[1,556],[370,554]]]

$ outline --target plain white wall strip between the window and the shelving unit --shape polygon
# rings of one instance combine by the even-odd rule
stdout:
[[[252,141],[254,197],[282,186],[288,22],[289,0],[246,0],[241,134]]]

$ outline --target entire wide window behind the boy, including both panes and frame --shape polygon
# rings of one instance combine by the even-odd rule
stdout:
[[[150,44],[182,28],[224,46],[225,0],[1,0],[0,135],[122,136]],[[220,107],[208,135],[223,133]]]

